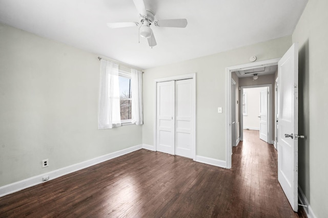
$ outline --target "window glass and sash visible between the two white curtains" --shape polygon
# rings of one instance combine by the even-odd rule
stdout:
[[[121,122],[130,122],[132,119],[131,74],[119,72],[118,82]]]

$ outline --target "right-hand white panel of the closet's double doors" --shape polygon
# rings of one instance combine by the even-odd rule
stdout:
[[[192,158],[192,79],[175,81],[175,154]]]

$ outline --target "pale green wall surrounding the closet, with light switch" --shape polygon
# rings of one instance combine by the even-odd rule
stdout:
[[[146,70],[142,142],[154,145],[154,79],[196,72],[196,154],[225,161],[226,67],[249,63],[252,55],[258,61],[282,57],[291,45],[288,36]],[[223,108],[222,114],[217,113],[219,106]]]

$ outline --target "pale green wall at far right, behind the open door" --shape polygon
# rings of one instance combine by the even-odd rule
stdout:
[[[327,217],[328,1],[310,0],[293,33],[299,43],[299,185],[317,217]]]

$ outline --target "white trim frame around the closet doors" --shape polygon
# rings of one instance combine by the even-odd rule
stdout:
[[[154,148],[157,151],[157,82],[166,82],[172,80],[181,80],[181,79],[193,79],[192,81],[192,92],[193,92],[193,102],[192,102],[192,158],[196,160],[196,73],[192,74],[183,74],[172,77],[165,77],[154,80]]]

